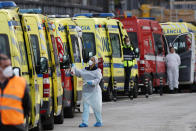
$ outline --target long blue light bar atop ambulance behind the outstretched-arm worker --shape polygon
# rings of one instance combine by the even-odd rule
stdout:
[[[74,14],[74,17],[86,16],[86,17],[115,17],[114,13],[83,13],[83,14]]]

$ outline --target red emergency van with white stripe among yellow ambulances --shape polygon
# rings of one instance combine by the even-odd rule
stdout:
[[[165,54],[167,48],[164,47],[166,44],[162,28],[157,21],[138,19],[135,16],[117,19],[124,24],[134,48],[139,49],[137,58],[139,86],[148,86],[151,94],[153,87],[166,84]]]

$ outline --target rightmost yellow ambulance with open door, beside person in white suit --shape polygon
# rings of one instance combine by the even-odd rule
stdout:
[[[179,67],[180,85],[189,85],[192,90],[196,90],[196,68],[195,68],[195,38],[196,27],[186,22],[166,22],[161,23],[163,32],[169,46],[174,46],[176,53],[181,58]]]

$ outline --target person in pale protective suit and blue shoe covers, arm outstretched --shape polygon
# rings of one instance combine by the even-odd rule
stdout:
[[[89,106],[92,107],[97,121],[94,126],[102,126],[102,92],[99,86],[99,83],[102,79],[102,74],[101,70],[97,68],[96,64],[98,64],[98,59],[97,57],[93,56],[89,60],[89,67],[81,70],[77,69],[75,66],[72,67],[73,75],[82,77],[83,79],[83,114],[82,123],[79,125],[79,127],[88,127]]]

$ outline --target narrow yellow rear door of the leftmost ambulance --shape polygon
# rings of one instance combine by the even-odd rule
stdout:
[[[39,94],[39,84],[38,78],[35,71],[35,59],[33,50],[30,44],[30,34],[29,30],[30,27],[26,24],[26,19],[22,16],[21,24],[24,32],[25,37],[25,47],[27,52],[27,60],[28,60],[28,67],[29,67],[29,76],[30,76],[30,94],[31,94],[31,101],[32,101],[32,111],[31,111],[31,123],[33,127],[38,126],[38,122],[40,119],[40,94]]]

